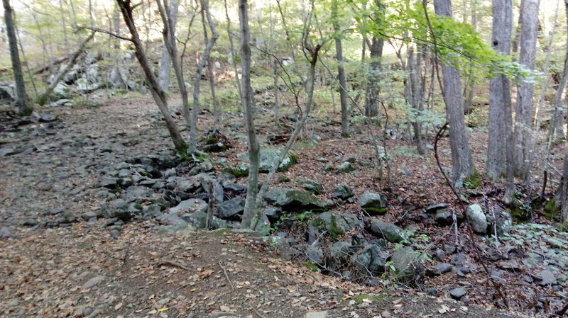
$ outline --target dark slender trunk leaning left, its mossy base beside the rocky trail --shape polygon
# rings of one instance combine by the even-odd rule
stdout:
[[[134,24],[131,0],[116,0],[116,3],[119,5],[124,22],[132,35],[134,55],[136,56],[136,59],[138,59],[138,63],[146,77],[148,89],[150,89],[150,92],[152,93],[156,106],[158,106],[160,112],[164,116],[165,126],[168,128],[168,132],[170,133],[175,149],[181,156],[185,156],[187,154],[187,144],[183,141],[182,135],[178,130],[178,126],[175,125],[175,121],[173,120],[172,115],[170,114],[170,109],[168,108],[168,100],[165,97],[165,92],[161,89],[160,84],[158,84],[158,79],[154,75],[151,64],[148,61],[148,57],[146,57],[146,50],[144,50],[144,45],[140,40],[138,30],[136,30],[136,25]]]

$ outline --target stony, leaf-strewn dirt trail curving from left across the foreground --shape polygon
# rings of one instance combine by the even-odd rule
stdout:
[[[99,205],[92,186],[104,166],[170,152],[146,100],[57,115],[3,135],[15,154],[0,164],[1,317],[515,317],[322,276],[280,261],[251,233],[161,235],[145,221],[114,239],[105,220],[82,219],[50,228]]]

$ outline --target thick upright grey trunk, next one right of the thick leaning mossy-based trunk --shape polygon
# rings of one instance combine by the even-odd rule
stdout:
[[[510,37],[513,28],[511,0],[493,0],[493,31],[491,45],[501,55],[510,54]],[[507,137],[512,130],[510,83],[503,74],[491,78],[489,84],[489,133],[487,148],[487,174],[496,179],[506,173]]]

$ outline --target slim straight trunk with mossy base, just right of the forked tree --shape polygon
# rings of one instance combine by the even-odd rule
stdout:
[[[337,2],[332,1],[332,21],[335,33],[335,55],[337,56],[337,79],[339,80],[339,102],[342,106],[342,136],[349,135],[349,109],[347,108],[347,84],[345,79],[345,69],[343,67],[342,40],[340,38],[341,29],[339,28],[339,15],[337,13]]]

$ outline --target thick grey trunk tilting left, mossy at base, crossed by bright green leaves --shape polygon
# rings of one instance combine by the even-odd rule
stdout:
[[[452,18],[452,4],[449,0],[435,0],[436,14]],[[457,69],[442,63],[444,78],[444,103],[449,123],[449,145],[452,149],[453,181],[463,186],[464,180],[475,173],[474,163],[466,135],[464,100],[461,98],[461,81]]]

